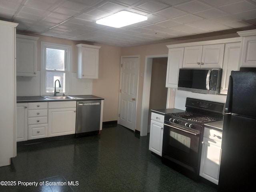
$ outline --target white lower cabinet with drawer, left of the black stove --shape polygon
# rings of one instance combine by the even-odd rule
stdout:
[[[149,150],[162,156],[164,115],[151,113]]]

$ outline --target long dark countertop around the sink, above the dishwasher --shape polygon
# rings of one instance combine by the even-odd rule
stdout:
[[[22,102],[52,102],[52,101],[78,101],[78,100],[104,100],[102,97],[95,95],[68,95],[75,99],[46,99],[42,96],[17,96],[17,103]]]

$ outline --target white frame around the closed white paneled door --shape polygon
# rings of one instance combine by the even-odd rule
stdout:
[[[139,74],[140,74],[140,55],[128,55],[128,56],[121,56],[120,58],[120,79],[119,79],[119,94],[118,94],[118,114],[117,114],[117,123],[119,124],[120,122],[120,106],[121,106],[121,94],[120,94],[120,89],[121,89],[121,82],[122,82],[122,60],[123,58],[138,58],[139,60],[139,71],[138,71],[138,82],[137,82],[137,95],[136,95],[136,110],[135,110],[135,119],[134,119],[134,128],[133,131],[135,131],[135,126],[136,126],[136,120],[137,120],[137,108],[138,108],[138,85],[139,85]]]

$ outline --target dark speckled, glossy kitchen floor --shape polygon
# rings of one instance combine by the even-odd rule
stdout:
[[[0,186],[0,192],[217,191],[162,164],[148,139],[116,125],[100,135],[18,146],[12,165],[0,167],[0,181],[38,186]]]

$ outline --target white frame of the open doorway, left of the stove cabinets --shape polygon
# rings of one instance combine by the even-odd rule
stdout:
[[[150,86],[151,86],[153,58],[168,58],[168,54],[148,55],[145,58],[141,122],[140,122],[140,136],[147,136],[147,134],[148,134],[148,114],[149,114],[149,100],[150,100]],[[168,88],[166,108],[174,107],[174,96],[175,96],[175,92],[173,93],[171,91],[171,89]]]

